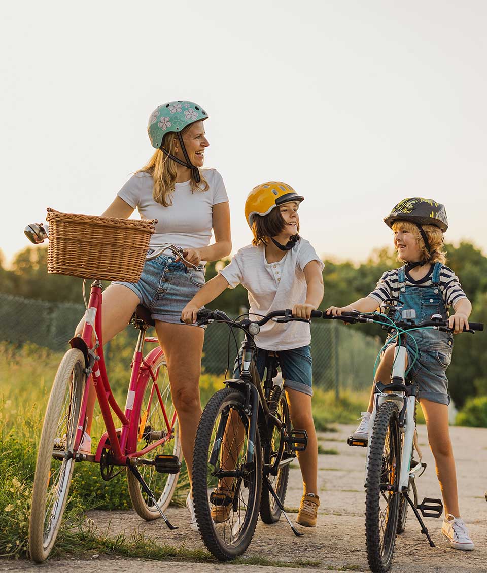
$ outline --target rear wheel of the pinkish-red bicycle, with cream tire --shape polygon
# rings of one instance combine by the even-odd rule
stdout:
[[[166,360],[163,355],[159,360],[152,365],[152,371],[158,372],[156,376],[156,384],[149,378],[146,389],[144,391],[144,398],[140,411],[134,412],[139,420],[139,434],[137,449],[142,450],[147,448],[151,442],[154,442],[167,434],[167,423],[164,419],[164,412],[160,406],[157,389],[159,390],[164,410],[169,422],[174,416],[174,404],[171,398],[171,387],[169,385],[169,377],[167,375]],[[157,387],[156,387],[157,385]],[[146,460],[153,460],[155,456],[166,455],[176,456],[179,461],[182,458],[181,444],[179,440],[178,431],[178,418],[174,422],[174,438],[169,439],[164,444],[154,448],[143,457]],[[138,470],[144,481],[154,493],[154,497],[158,500],[158,505],[164,511],[171,503],[172,494],[176,489],[178,483],[179,473],[159,473],[152,465],[139,465]],[[139,514],[142,519],[150,521],[160,517],[158,509],[154,503],[142,491],[139,481],[133,473],[127,469],[127,482],[128,492],[132,500],[133,509]]]

